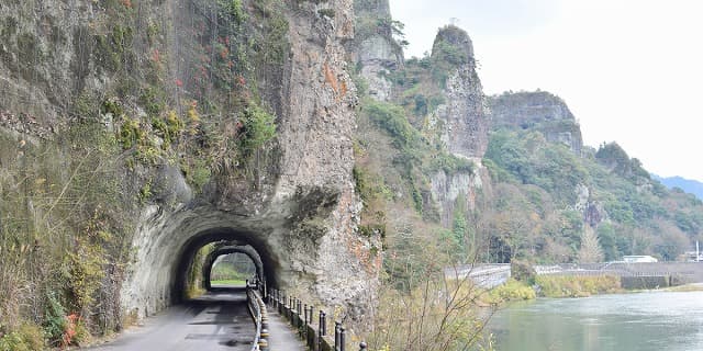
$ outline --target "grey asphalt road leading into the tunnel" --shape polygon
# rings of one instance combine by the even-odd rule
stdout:
[[[245,287],[215,287],[146,318],[114,341],[89,350],[250,350],[256,327]]]

